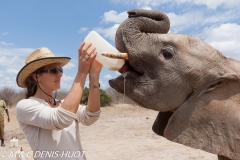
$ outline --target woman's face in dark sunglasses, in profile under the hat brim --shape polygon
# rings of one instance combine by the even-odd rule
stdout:
[[[60,89],[63,75],[61,71],[61,67],[56,63],[45,66],[41,74],[38,75],[40,87],[49,92]]]

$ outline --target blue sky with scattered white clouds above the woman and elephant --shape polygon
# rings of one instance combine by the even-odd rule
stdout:
[[[0,88],[19,89],[16,75],[25,58],[39,47],[69,56],[62,89],[71,87],[77,72],[77,49],[92,30],[115,46],[115,31],[134,8],[161,10],[171,22],[171,34],[188,34],[240,60],[239,0],[0,0]],[[119,75],[103,67],[100,83]],[[88,80],[86,82],[88,86]]]

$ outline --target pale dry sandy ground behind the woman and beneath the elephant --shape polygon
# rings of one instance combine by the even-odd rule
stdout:
[[[25,152],[31,151],[16,121],[15,108],[10,109],[10,116],[11,122],[5,120],[6,147],[0,147],[0,160],[16,159],[9,158],[9,155],[20,147]],[[102,108],[101,117],[95,124],[80,125],[87,159],[217,160],[216,155],[170,142],[154,134],[151,127],[156,116],[156,111],[125,104]],[[18,148],[9,146],[12,136],[18,136]]]

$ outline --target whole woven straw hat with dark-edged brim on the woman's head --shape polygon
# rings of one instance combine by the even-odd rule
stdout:
[[[55,57],[48,48],[38,48],[32,52],[25,60],[25,66],[19,71],[17,75],[17,84],[19,87],[26,87],[26,78],[37,69],[52,63],[59,63],[62,67],[66,65],[71,58],[69,57]]]

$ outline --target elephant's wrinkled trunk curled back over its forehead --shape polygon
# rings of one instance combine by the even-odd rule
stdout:
[[[161,11],[134,9],[128,15],[116,31],[115,43],[120,52],[129,53],[128,46],[134,48],[149,33],[166,34],[169,31],[169,18]]]

